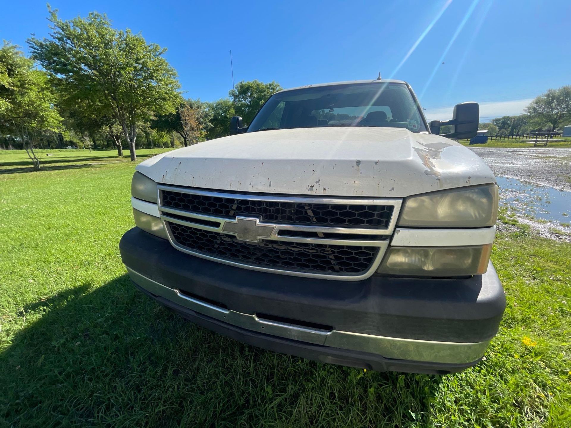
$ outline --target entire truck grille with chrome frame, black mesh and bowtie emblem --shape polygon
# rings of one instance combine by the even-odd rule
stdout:
[[[158,188],[160,218],[179,251],[245,269],[344,281],[379,267],[402,202]]]

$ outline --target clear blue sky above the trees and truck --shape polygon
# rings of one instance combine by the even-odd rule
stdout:
[[[429,118],[481,103],[481,119],[518,114],[548,88],[571,84],[569,0],[110,1],[52,0],[64,19],[96,10],[167,47],[186,96],[215,100],[234,78],[283,87],[407,80]],[[2,6],[0,38],[26,47],[48,34],[45,1]],[[27,49],[25,49],[27,50]]]

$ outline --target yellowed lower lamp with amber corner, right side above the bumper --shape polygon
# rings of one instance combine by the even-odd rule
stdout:
[[[492,244],[472,247],[390,247],[377,273],[406,276],[471,276],[488,269]]]

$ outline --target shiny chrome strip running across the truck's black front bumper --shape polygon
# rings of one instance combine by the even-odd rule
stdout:
[[[339,330],[321,330],[263,320],[258,318],[256,314],[244,314],[231,309],[219,308],[207,302],[184,296],[178,289],[159,284],[130,268],[127,268],[127,271],[135,284],[154,296],[166,298],[199,314],[254,332],[316,345],[371,352],[396,360],[465,364],[478,360],[490,342],[489,340],[477,343],[413,340]]]

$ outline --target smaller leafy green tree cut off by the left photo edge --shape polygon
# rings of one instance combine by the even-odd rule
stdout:
[[[0,128],[21,139],[23,148],[39,171],[34,143],[46,131],[57,131],[61,117],[47,74],[35,70],[32,60],[18,47],[3,43],[0,49]]]

